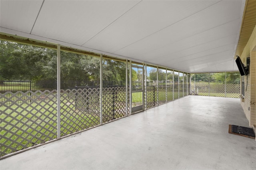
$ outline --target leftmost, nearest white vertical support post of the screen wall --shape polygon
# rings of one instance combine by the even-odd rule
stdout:
[[[57,138],[60,138],[60,44],[57,45]]]

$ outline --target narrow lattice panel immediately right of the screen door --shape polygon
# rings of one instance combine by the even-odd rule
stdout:
[[[147,109],[157,106],[157,87],[147,86]]]

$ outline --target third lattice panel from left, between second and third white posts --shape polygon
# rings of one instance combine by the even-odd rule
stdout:
[[[102,103],[103,123],[126,116],[126,87],[103,88]]]

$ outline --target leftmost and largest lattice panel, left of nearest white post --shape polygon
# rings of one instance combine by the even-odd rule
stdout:
[[[0,156],[57,138],[57,91],[0,94]]]

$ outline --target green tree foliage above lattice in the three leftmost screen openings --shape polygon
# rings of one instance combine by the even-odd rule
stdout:
[[[99,57],[61,51],[61,80],[100,80]],[[103,60],[104,81],[125,81],[126,64]],[[0,80],[56,80],[57,51],[0,41]]]

